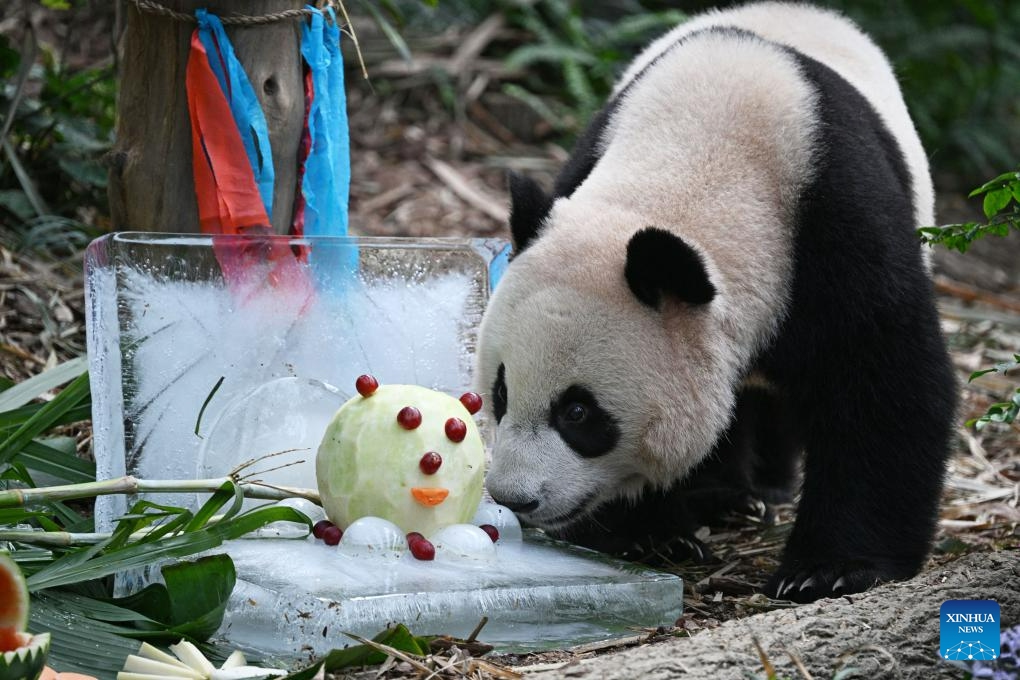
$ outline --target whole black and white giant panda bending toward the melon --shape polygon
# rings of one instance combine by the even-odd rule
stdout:
[[[853,22],[697,16],[629,66],[551,194],[510,194],[476,352],[495,501],[597,550],[706,559],[702,522],[796,492],[770,596],[917,573],[957,388],[915,231],[926,157]]]

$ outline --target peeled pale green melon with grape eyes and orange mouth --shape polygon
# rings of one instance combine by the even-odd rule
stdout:
[[[408,406],[421,414],[413,429],[397,419]],[[450,418],[466,426],[462,441],[447,436]],[[420,466],[429,452],[442,457],[434,474]],[[340,408],[319,446],[315,474],[322,508],[334,524],[346,528],[360,517],[381,517],[405,532],[430,536],[474,515],[484,461],[481,435],[460,401],[427,387],[391,384]]]

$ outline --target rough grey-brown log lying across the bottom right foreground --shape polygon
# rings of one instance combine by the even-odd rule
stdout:
[[[901,583],[727,621],[690,638],[633,647],[558,668],[527,673],[528,680],[666,680],[764,678],[757,639],[779,678],[961,678],[938,660],[939,608],[947,599],[994,599],[1003,630],[1020,622],[1020,553],[977,553]],[[788,650],[788,651],[787,651]],[[538,670],[538,669],[537,669]],[[845,673],[849,673],[846,672]],[[999,676],[997,676],[999,677]]]

